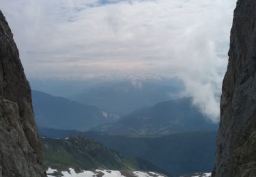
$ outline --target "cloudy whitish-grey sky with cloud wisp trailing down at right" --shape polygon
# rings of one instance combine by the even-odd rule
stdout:
[[[29,78],[165,76],[218,121],[236,0],[1,0]]]

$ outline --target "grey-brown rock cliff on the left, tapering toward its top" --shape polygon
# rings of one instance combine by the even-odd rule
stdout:
[[[31,91],[0,11],[0,176],[46,176]]]

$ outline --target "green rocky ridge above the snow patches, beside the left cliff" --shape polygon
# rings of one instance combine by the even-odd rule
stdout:
[[[85,137],[42,138],[44,165],[55,169],[79,167],[83,170],[143,170],[168,174],[148,161],[126,158]]]

